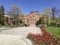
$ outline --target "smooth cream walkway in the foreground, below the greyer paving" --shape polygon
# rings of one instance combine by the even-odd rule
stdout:
[[[0,34],[0,45],[32,45],[32,43],[21,35]]]

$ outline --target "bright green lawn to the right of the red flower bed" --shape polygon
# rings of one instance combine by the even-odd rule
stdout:
[[[55,35],[55,37],[60,38],[60,28],[58,27],[46,27],[46,30]]]

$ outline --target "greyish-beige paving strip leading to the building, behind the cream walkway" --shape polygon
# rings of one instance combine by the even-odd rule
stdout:
[[[24,35],[27,36],[29,33],[40,34],[42,35],[42,31],[38,27],[17,27],[7,30],[1,30],[0,34],[15,34],[15,35]]]

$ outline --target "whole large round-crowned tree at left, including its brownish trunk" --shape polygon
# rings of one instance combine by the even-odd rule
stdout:
[[[19,15],[22,15],[21,9],[17,5],[11,6],[8,14],[15,19],[15,24],[19,23]]]

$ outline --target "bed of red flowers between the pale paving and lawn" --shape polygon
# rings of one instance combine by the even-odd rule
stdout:
[[[41,28],[43,31],[43,35],[39,34],[29,34],[27,38],[32,40],[35,44],[38,45],[56,45],[57,39],[48,33],[45,29]]]

